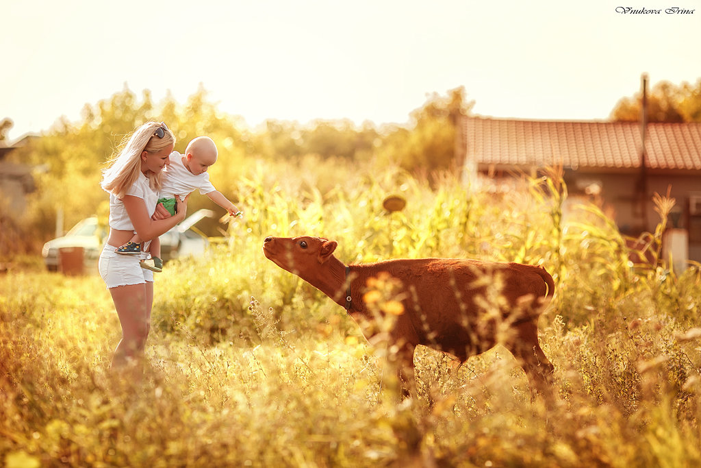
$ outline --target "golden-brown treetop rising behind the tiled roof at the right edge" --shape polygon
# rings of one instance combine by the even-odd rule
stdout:
[[[642,93],[622,98],[611,111],[613,121],[633,122],[640,120]],[[660,81],[648,95],[648,122],[699,122],[701,121],[701,79],[695,86],[681,83],[676,86],[669,81]]]

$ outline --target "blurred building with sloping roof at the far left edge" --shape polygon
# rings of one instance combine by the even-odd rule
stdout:
[[[32,177],[32,166],[26,164],[13,163],[6,161],[6,156],[15,149],[24,147],[36,137],[36,135],[25,135],[13,142],[11,145],[6,145],[6,142],[0,140],[0,213],[6,210],[6,213],[18,216],[24,213],[27,208],[27,194],[34,192],[34,178]]]

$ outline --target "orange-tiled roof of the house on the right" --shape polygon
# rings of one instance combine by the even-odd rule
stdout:
[[[465,157],[477,163],[639,168],[640,124],[466,117]],[[701,123],[648,123],[648,168],[701,170]]]

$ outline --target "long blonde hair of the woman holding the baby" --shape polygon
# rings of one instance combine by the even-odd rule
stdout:
[[[102,171],[102,188],[122,199],[128,189],[134,185],[141,171],[141,154],[146,151],[157,153],[170,145],[175,145],[175,135],[163,128],[163,138],[158,138],[155,132],[163,128],[161,123],[150,121],[139,126],[134,133],[126,135],[115,154],[107,161],[107,169]],[[162,173],[146,174],[151,189],[158,192],[161,189]]]

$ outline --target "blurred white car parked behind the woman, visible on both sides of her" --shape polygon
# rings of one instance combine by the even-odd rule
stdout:
[[[194,225],[203,218],[212,218],[212,210],[197,210],[183,222],[161,235],[161,258],[164,262],[187,255],[201,255],[207,247],[206,236],[193,230]],[[81,220],[65,236],[57,237],[44,244],[41,255],[44,265],[55,272],[59,267],[58,250],[60,248],[82,247],[83,260],[87,265],[96,265],[102,251],[102,236],[97,232],[97,217],[91,216]]]

